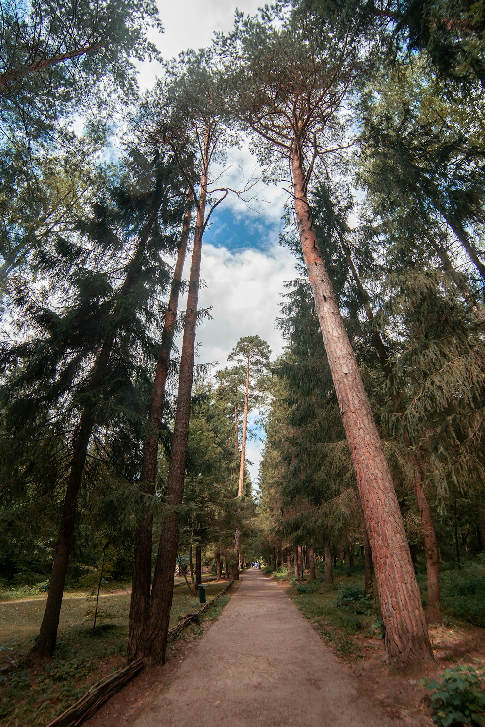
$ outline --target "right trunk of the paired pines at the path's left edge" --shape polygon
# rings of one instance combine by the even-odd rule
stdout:
[[[179,371],[179,393],[174,421],[174,436],[166,489],[166,513],[163,516],[158,544],[157,561],[150,594],[150,622],[145,624],[142,644],[137,653],[148,656],[154,664],[164,664],[166,657],[170,609],[174,597],[174,572],[179,545],[179,519],[174,508],[182,504],[184,496],[185,462],[189,437],[189,418],[192,397],[192,379],[195,359],[195,328],[199,298],[200,260],[205,217],[207,169],[204,165],[197,203],[192,262],[190,266],[189,292],[185,314],[182,357]]]

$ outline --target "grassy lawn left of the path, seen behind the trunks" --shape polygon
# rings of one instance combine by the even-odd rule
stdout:
[[[205,596],[211,601],[227,583],[208,583]],[[222,596],[209,608],[205,619],[215,620],[229,600]],[[96,599],[85,592],[65,595],[62,601],[56,653],[41,667],[19,667],[0,675],[0,724],[42,726],[60,715],[110,671],[126,666],[130,595],[103,594],[99,599],[96,634],[92,634]],[[44,614],[44,597],[0,603],[0,667],[26,654],[38,634]],[[179,616],[200,608],[182,585],[174,590],[170,625]],[[190,627],[197,638],[200,628]]]

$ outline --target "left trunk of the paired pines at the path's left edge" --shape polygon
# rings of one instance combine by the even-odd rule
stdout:
[[[150,433],[144,440],[142,452],[141,482],[145,494],[155,496],[155,482],[157,478],[158,438],[162,419],[163,404],[165,403],[165,387],[168,376],[168,366],[174,331],[176,325],[177,309],[179,307],[179,294],[182,286],[182,273],[184,271],[185,253],[189,238],[190,217],[192,212],[192,191],[187,193],[187,206],[182,224],[179,252],[174,268],[168,308],[163,323],[160,351],[158,353],[157,368],[150,396],[148,423]],[[147,509],[142,515],[142,521],[136,531],[133,581],[131,586],[130,626],[128,638],[129,659],[137,659],[141,643],[144,622],[150,618],[150,585],[152,580],[152,528],[153,515]]]

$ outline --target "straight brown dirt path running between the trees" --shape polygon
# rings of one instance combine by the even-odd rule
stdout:
[[[113,721],[113,724],[116,720]],[[283,590],[246,571],[237,592],[133,723],[391,727]]]

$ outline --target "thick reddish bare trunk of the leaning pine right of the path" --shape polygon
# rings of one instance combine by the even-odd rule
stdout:
[[[433,652],[394,483],[384,456],[306,200],[298,150],[292,158],[294,206],[301,249],[314,294],[369,534],[388,662],[403,667],[430,661]]]

